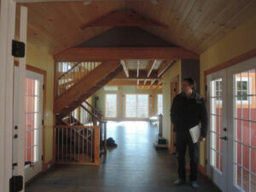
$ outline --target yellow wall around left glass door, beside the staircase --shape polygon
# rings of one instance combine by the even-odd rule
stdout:
[[[54,85],[54,60],[52,55],[38,49],[32,44],[26,44],[26,64],[38,67],[47,72],[46,84],[46,117],[45,125],[45,163],[53,158],[53,85]]]

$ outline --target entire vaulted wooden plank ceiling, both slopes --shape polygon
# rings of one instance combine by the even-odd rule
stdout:
[[[255,0],[106,0],[67,3],[19,3],[28,7],[28,41],[55,55],[74,47],[111,26],[86,23],[101,18],[112,10],[132,9],[168,27],[143,26],[166,41],[201,54],[232,32],[242,22],[256,15]],[[19,12],[20,9],[17,9]],[[17,13],[17,21],[19,13]],[[17,22],[17,31],[18,33]]]

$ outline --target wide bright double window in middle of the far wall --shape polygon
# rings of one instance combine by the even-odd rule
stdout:
[[[125,117],[148,118],[148,95],[126,95]]]

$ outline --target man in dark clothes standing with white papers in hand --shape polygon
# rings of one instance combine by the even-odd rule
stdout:
[[[178,163],[178,179],[175,185],[183,184],[186,180],[185,154],[189,146],[190,158],[190,183],[193,189],[198,189],[198,142],[193,143],[189,129],[201,124],[200,141],[204,142],[207,137],[207,108],[204,98],[195,92],[195,80],[183,79],[183,92],[175,96],[172,102],[171,119],[176,132],[176,148]]]

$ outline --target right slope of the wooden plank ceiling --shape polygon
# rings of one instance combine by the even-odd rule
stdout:
[[[216,44],[236,26],[256,15],[253,0],[181,0],[174,2],[163,0],[160,3],[165,4],[160,13],[166,13],[166,18],[161,16],[159,20],[166,23],[169,29],[162,30],[159,27],[145,27],[145,29],[172,44],[194,50],[198,54]],[[160,3],[157,6],[160,7]],[[166,3],[172,3],[172,5],[168,6]],[[135,6],[134,3],[129,5],[131,9],[141,11],[145,15],[153,15],[153,17],[155,12],[158,12],[150,13],[151,9],[142,3],[138,5],[141,7]],[[157,6],[155,6],[156,9]],[[237,21],[235,19],[237,17],[242,19]],[[231,20],[236,20],[236,23]]]

